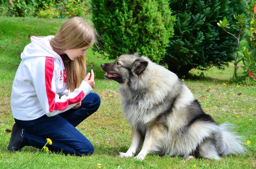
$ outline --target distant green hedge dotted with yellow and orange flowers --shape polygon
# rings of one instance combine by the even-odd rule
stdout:
[[[90,0],[0,0],[1,16],[69,18],[87,17]]]

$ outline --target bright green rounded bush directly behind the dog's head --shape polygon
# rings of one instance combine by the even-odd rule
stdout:
[[[110,59],[134,52],[159,63],[173,35],[167,0],[93,0],[93,23]]]

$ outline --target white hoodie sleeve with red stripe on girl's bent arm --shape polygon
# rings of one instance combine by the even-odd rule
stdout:
[[[45,58],[45,64],[42,64],[42,59],[39,59],[41,64],[34,64],[34,70],[37,72],[33,73],[33,83],[40,106],[47,116],[51,117],[71,109],[93,90],[89,83],[83,80],[74,92],[58,95],[56,86],[59,84],[56,83],[59,81],[59,67],[53,58],[42,58]]]

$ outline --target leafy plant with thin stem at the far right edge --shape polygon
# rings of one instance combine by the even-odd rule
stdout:
[[[237,40],[237,52],[234,57],[234,79],[238,79],[237,64],[242,61],[244,64],[241,66],[244,70],[242,75],[244,75],[245,80],[240,81],[245,84],[251,84],[250,77],[255,80],[254,74],[256,73],[256,2],[250,0],[246,5],[247,13],[235,13],[233,15],[236,24],[230,26],[229,20],[227,20],[226,17],[217,24],[219,27],[222,27],[227,34]],[[230,27],[237,30],[237,36],[226,30],[226,28],[229,29]],[[243,40],[241,40],[241,38],[243,38]]]

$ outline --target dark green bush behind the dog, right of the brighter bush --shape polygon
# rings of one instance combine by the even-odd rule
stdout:
[[[169,70],[187,76],[192,68],[222,68],[234,60],[236,39],[217,22],[227,16],[233,24],[234,12],[245,10],[243,0],[170,0],[170,7],[177,20],[164,57]]]

